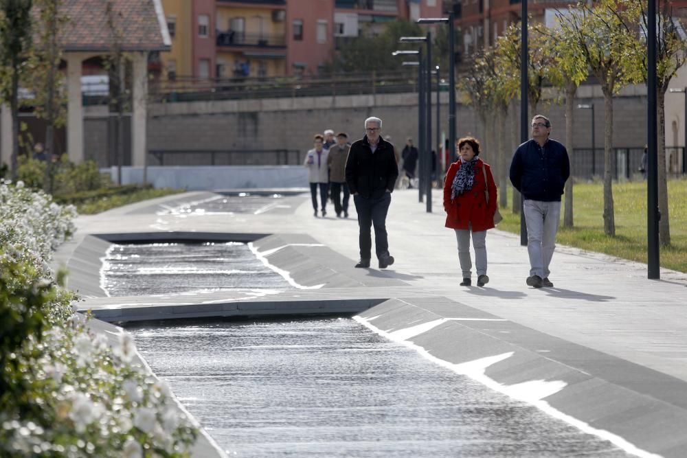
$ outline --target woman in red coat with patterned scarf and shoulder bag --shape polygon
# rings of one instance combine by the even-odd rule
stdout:
[[[480,159],[480,141],[473,137],[458,140],[460,157],[449,167],[444,181],[446,227],[455,229],[458,261],[463,274],[461,286],[471,285],[470,236],[475,248],[477,286],[489,282],[486,275],[486,231],[494,227],[496,183],[491,167]],[[489,201],[486,201],[486,190]]]

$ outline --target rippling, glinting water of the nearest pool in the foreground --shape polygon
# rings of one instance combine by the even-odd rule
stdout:
[[[240,457],[624,457],[351,319],[131,328]]]

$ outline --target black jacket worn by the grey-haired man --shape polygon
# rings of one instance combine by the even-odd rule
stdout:
[[[398,164],[394,145],[379,137],[379,144],[372,153],[368,136],[354,141],[346,161],[346,183],[351,194],[364,198],[380,198],[388,190],[394,191],[398,178]]]

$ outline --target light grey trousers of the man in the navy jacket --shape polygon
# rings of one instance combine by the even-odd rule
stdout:
[[[523,202],[527,225],[527,252],[530,255],[530,276],[547,278],[549,264],[556,248],[556,232],[561,220],[561,202]]]

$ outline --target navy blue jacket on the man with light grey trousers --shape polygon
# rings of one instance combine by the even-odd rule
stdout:
[[[510,183],[532,201],[561,201],[570,177],[570,159],[565,146],[548,139],[543,147],[530,139],[521,144],[510,163]]]

